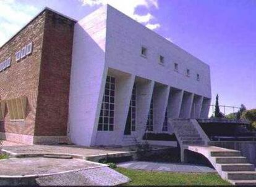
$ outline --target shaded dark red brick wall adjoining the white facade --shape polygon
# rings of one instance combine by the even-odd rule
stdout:
[[[66,136],[74,23],[46,11],[36,136]]]

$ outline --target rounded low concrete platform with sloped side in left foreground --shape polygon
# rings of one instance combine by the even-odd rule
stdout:
[[[121,185],[129,178],[108,165],[49,157],[0,161],[0,185]]]

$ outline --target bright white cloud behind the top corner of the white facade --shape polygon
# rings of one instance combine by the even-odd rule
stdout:
[[[120,10],[124,14],[128,15],[131,18],[134,18],[134,20],[137,20],[137,22],[144,23],[145,25],[148,25],[148,28],[155,29],[159,28],[160,24],[151,24],[151,20],[155,20],[155,17],[151,15],[149,12],[145,15],[139,15],[135,14],[135,10],[139,6],[144,6],[148,10],[150,10],[151,7],[158,9],[158,0],[79,0],[82,2],[83,6],[99,6],[99,5],[105,5],[109,4],[113,6],[114,8]]]

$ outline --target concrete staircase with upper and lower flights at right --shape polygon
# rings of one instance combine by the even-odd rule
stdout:
[[[171,126],[181,146],[181,160],[186,160],[186,149],[207,157],[221,178],[233,185],[256,185],[253,164],[240,151],[208,146],[210,141],[195,119],[171,119]]]

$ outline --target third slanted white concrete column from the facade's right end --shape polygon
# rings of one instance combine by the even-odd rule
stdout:
[[[179,118],[190,118],[193,99],[194,94],[184,92],[181,104],[181,113],[179,114]]]

